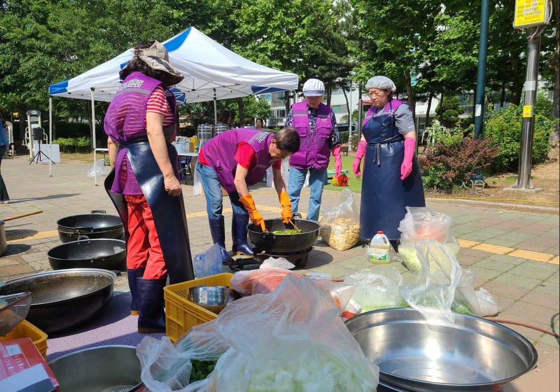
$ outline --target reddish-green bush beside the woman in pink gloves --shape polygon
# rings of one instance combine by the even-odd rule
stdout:
[[[424,185],[451,189],[455,181],[469,180],[476,170],[492,164],[498,147],[491,139],[472,139],[461,133],[440,138],[436,146],[428,147],[418,157]]]

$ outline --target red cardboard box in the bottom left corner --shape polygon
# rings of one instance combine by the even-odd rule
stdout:
[[[58,385],[30,338],[0,342],[0,390],[49,392]]]

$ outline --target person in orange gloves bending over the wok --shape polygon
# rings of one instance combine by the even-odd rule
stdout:
[[[232,129],[210,139],[198,155],[197,171],[206,198],[206,212],[214,244],[222,248],[222,262],[227,258],[225,250],[225,224],[222,216],[222,186],[228,193],[234,217],[231,235],[234,241],[233,255],[253,255],[247,242],[249,219],[265,230],[262,215],[257,211],[248,187],[263,180],[272,166],[274,187],[282,206],[281,217],[285,223],[292,218],[290,198],[282,179],[283,158],[300,148],[300,137],[293,128],[276,133],[251,128]]]

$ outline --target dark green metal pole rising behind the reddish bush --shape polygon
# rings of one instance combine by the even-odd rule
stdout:
[[[482,137],[484,127],[484,90],[486,88],[486,58],[488,53],[488,21],[490,0],[482,0],[480,7],[480,37],[478,41],[477,92],[474,100],[474,138]],[[443,102],[442,102],[443,105]],[[477,170],[473,180],[483,181],[484,177]]]

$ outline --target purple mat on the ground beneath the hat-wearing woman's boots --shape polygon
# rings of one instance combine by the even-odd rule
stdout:
[[[46,340],[47,361],[88,347],[124,344],[137,346],[143,338],[160,339],[165,334],[140,334],[137,332],[138,316],[130,315],[130,293],[113,296],[107,309],[96,319],[78,328],[53,335]]]

